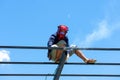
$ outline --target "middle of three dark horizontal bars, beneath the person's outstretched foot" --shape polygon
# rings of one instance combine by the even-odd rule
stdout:
[[[31,64],[31,65],[58,65],[58,63],[54,62],[0,62],[0,64]],[[69,62],[64,63],[65,65],[120,65],[120,63],[94,63],[94,64],[86,64],[86,63],[80,63],[80,62]]]

